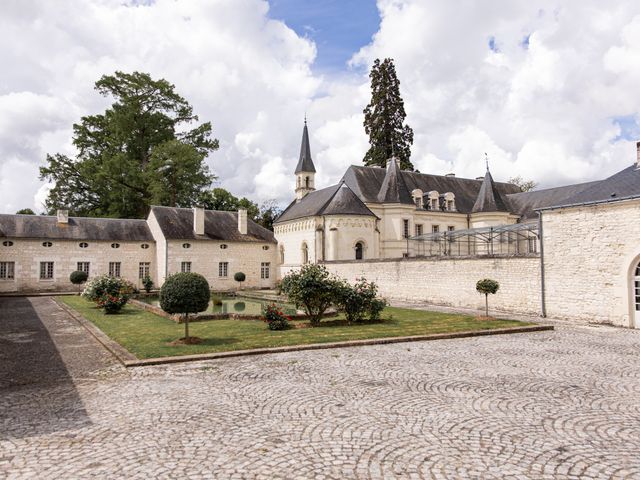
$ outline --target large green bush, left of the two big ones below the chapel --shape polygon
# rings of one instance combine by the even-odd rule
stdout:
[[[311,325],[320,324],[324,312],[340,295],[343,282],[329,275],[323,265],[307,264],[291,272],[280,282],[280,288],[296,308],[304,310]]]

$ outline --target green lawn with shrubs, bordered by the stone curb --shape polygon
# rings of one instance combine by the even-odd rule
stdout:
[[[138,358],[226,352],[252,348],[339,342],[367,338],[426,335],[531,325],[515,320],[476,320],[472,316],[388,307],[378,323],[344,325],[342,317],[323,320],[316,328],[271,331],[259,320],[209,320],[189,324],[199,345],[171,346],[184,325],[127,305],[118,315],[104,315],[95,305],[77,296],[59,297]]]

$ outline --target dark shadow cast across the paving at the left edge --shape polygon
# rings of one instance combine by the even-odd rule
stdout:
[[[46,298],[0,298],[0,440],[90,424],[58,350],[79,332],[59,312]]]

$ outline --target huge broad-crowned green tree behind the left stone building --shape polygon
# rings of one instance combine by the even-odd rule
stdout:
[[[218,148],[211,123],[193,125],[198,116],[174,85],[146,73],[105,75],[95,89],[114,103],[73,125],[76,158],[47,155],[47,210],[143,218],[152,204],[195,203],[214,178],[204,162]]]

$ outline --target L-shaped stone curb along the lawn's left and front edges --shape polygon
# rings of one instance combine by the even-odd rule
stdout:
[[[202,360],[217,360],[233,357],[247,357],[267,353],[301,352],[304,350],[325,350],[330,348],[363,347],[368,345],[386,345],[390,343],[421,342],[431,340],[452,340],[456,338],[484,337],[488,335],[508,335],[512,333],[530,333],[554,330],[553,325],[533,325],[525,327],[496,328],[493,330],[477,330],[455,333],[432,333],[430,335],[413,335],[409,337],[368,338],[364,340],[350,340],[346,342],[310,343],[308,345],[290,345],[286,347],[256,348],[252,350],[235,350],[232,352],[200,353],[195,355],[177,355],[173,357],[156,357],[139,359],[119,343],[111,340],[102,330],[75,310],[53,299],[60,308],[86,328],[120,363],[125,367],[145,367],[170,363],[198,362]]]

